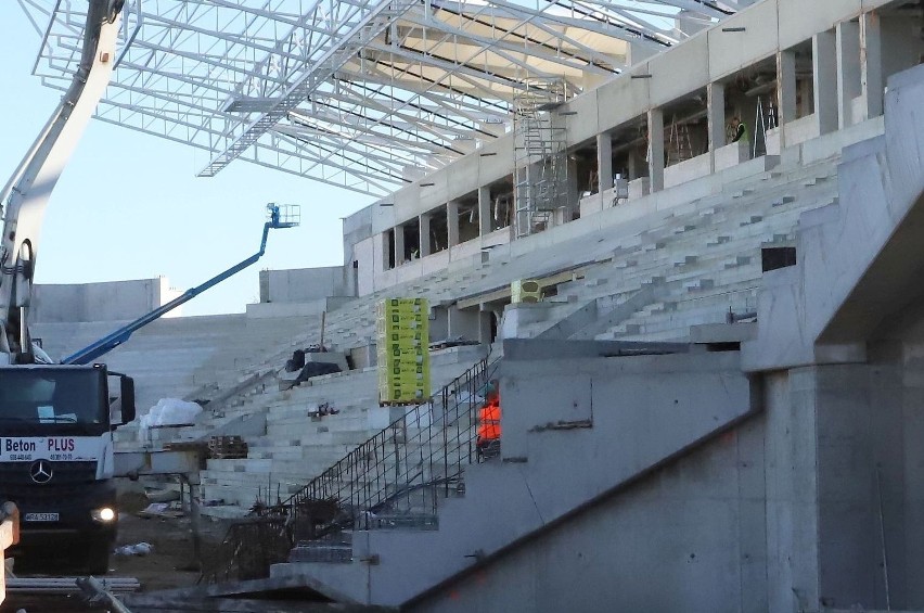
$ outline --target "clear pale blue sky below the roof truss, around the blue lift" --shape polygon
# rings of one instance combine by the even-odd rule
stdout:
[[[31,76],[39,38],[16,3],[0,2],[0,24],[5,183],[60,94]],[[183,315],[241,312],[258,301],[261,269],[341,265],[341,217],[373,200],[246,162],[196,178],[206,162],[192,148],[91,122],[46,213],[37,282],[164,276],[185,291],[257,251],[266,203],[300,204],[300,227],[271,232],[260,261],[183,307]]]

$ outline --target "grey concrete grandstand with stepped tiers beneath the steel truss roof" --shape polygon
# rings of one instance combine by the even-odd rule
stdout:
[[[607,48],[625,68],[577,95],[546,66],[505,94],[505,131],[408,154],[396,191],[371,187],[394,159],[341,166],[378,196],[344,220],[342,268],[265,271],[246,315],[158,321],[111,354],[149,400],[209,400],[146,445],[248,443],[200,487],[224,502],[204,512],[279,501],[294,521],[254,590],[408,611],[924,610],[924,7],[744,4],[657,53]],[[229,151],[256,156],[229,143],[205,174]],[[541,301],[511,302],[523,279]],[[426,297],[433,339],[472,342],[433,348],[420,406],[376,395],[390,296]],[[351,368],[288,387],[322,317]],[[59,356],[127,316],[104,319],[35,331]],[[485,458],[490,380],[503,435]],[[315,521],[322,502],[336,512]]]

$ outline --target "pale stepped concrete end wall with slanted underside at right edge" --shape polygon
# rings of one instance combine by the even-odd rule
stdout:
[[[801,216],[797,267],[763,276],[745,368],[863,359],[863,342],[915,297],[924,266],[924,66],[888,80],[885,133],[845,150],[838,203]]]

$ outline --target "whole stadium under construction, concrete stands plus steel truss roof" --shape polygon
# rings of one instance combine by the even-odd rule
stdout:
[[[66,89],[85,3],[20,4]],[[342,266],[105,357],[203,408],[116,452],[200,449],[233,520],[209,585],[126,606],[924,611],[924,3],[121,18],[97,119],[369,195]],[[38,286],[31,332],[61,358],[172,297]]]

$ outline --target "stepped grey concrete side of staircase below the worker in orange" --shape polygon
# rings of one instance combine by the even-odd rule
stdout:
[[[502,458],[467,465],[464,487],[445,490],[438,499],[435,523],[419,529],[386,524],[351,531],[344,539],[347,555],[274,565],[271,577],[301,578],[356,602],[401,605],[756,410],[736,353],[625,358],[618,367],[612,359],[583,358],[575,367],[580,374],[541,357],[505,365],[508,375],[524,378],[518,379],[523,386],[504,394],[505,407],[521,419],[508,421],[505,410]],[[617,388],[621,394],[641,391],[667,373],[676,382],[672,389],[689,392],[682,400],[651,393],[630,394],[631,404],[612,400]],[[572,387],[563,391],[560,383],[566,379]],[[541,427],[589,411],[590,394],[589,422]],[[573,401],[544,403],[531,413],[516,410],[538,409],[537,397],[550,395]],[[604,447],[609,450],[605,465],[598,456]],[[293,555],[310,549],[297,547]]]

